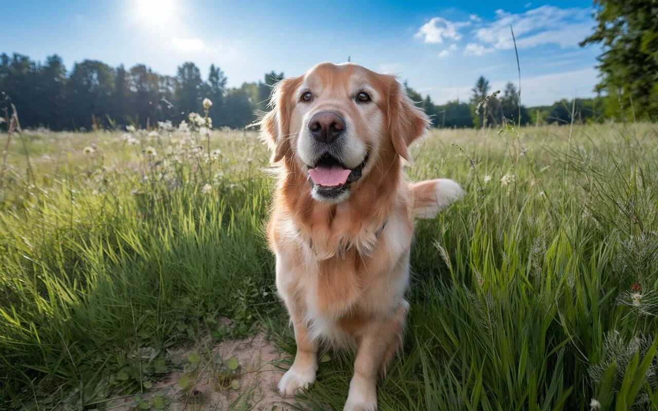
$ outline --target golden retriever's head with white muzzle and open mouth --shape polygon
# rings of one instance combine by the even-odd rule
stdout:
[[[357,64],[324,62],[300,77],[279,82],[261,135],[272,161],[308,177],[322,203],[345,201],[356,185],[389,160],[409,160],[409,144],[428,126],[395,76]],[[392,155],[394,157],[392,157]]]

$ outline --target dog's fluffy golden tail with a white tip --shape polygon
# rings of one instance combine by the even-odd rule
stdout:
[[[414,216],[433,218],[453,201],[464,195],[459,184],[447,178],[425,180],[409,184]]]

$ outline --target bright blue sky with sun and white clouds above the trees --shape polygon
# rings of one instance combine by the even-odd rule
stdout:
[[[3,3],[7,4],[3,4]],[[519,82],[521,100],[549,105],[590,97],[598,46],[591,1],[198,1],[0,0],[0,53],[34,60],[57,53],[71,70],[84,59],[143,63],[175,75],[214,63],[239,86],[275,70],[299,76],[318,62],[352,62],[401,80],[435,103],[467,100],[478,76],[493,89]],[[7,36],[9,34],[9,36]]]

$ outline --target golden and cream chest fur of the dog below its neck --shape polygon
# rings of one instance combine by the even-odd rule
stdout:
[[[361,322],[390,315],[403,300],[411,217],[403,203],[366,222],[340,212],[332,220],[307,221],[313,224],[283,213],[271,220],[276,285],[289,309],[302,307],[299,315],[313,337],[342,343],[336,340],[355,336]]]

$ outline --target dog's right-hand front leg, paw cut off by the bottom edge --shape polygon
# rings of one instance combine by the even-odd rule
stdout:
[[[403,301],[390,318],[368,324],[357,339],[354,375],[343,411],[377,410],[377,375],[384,373],[393,352],[401,345],[408,304]]]

